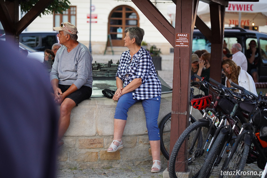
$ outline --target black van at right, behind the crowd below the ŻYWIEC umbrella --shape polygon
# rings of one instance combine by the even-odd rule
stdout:
[[[246,55],[248,44],[251,40],[255,40],[257,48],[259,50],[261,64],[258,67],[259,82],[267,82],[267,33],[261,33],[255,30],[246,30],[239,27],[225,28],[224,40],[227,43],[227,48],[231,49],[235,43],[242,45],[242,52]],[[211,51],[210,42],[203,36],[198,29],[194,29],[192,51],[196,50],[207,50]],[[231,50],[230,50],[231,51]]]

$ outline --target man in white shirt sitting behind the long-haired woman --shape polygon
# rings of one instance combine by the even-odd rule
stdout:
[[[232,60],[236,63],[236,65],[240,66],[244,71],[247,71],[248,61],[247,61],[245,54],[243,54],[241,50],[242,50],[242,46],[239,43],[233,44],[231,48],[231,51],[233,54]]]

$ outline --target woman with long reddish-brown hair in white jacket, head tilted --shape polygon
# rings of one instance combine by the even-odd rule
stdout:
[[[226,87],[232,87],[230,83],[233,82],[257,95],[256,86],[252,79],[252,76],[249,75],[248,72],[242,70],[242,67],[237,66],[234,61],[232,61],[231,59],[223,60],[222,69],[226,74]]]

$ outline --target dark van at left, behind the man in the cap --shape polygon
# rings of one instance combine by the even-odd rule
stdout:
[[[37,51],[44,51],[52,48],[54,43],[58,43],[58,32],[22,32],[19,35],[19,42],[32,47]],[[0,38],[6,38],[3,34]]]

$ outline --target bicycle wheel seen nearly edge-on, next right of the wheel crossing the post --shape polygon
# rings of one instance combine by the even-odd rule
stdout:
[[[220,132],[217,136],[215,142],[213,143],[211,149],[209,150],[209,154],[203,164],[203,166],[200,169],[199,178],[206,178],[209,177],[212,170],[213,170],[213,164],[215,163],[215,160],[219,154],[220,146],[222,144],[223,138],[225,137],[226,133]]]

